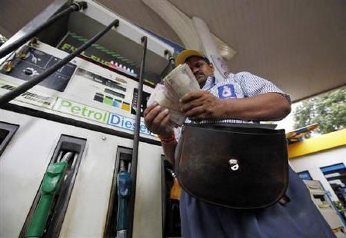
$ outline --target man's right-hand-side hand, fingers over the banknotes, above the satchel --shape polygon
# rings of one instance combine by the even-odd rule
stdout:
[[[181,98],[181,111],[191,120],[221,120],[224,102],[208,91],[193,91]]]

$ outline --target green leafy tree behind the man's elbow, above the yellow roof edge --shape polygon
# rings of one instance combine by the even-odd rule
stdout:
[[[346,128],[346,87],[302,101],[293,118],[295,129],[318,123],[319,134]]]

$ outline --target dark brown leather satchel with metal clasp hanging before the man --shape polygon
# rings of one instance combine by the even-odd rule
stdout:
[[[256,124],[185,124],[176,173],[190,195],[227,208],[266,208],[288,186],[284,130]]]

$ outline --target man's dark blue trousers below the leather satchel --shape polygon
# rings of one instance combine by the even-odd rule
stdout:
[[[183,191],[180,202],[183,238],[335,237],[311,201],[309,190],[291,168],[286,195],[291,201],[285,205],[233,210],[199,201]]]

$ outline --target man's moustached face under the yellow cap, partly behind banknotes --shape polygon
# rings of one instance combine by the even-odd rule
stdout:
[[[212,76],[214,73],[214,66],[211,63],[208,64],[201,57],[192,56],[188,58],[185,63],[191,68],[191,71],[194,73],[194,77],[196,77],[201,88],[206,84],[207,78]]]

